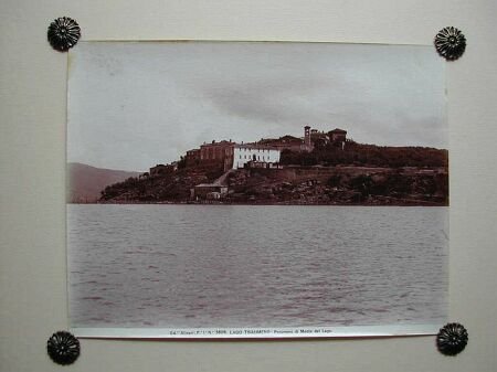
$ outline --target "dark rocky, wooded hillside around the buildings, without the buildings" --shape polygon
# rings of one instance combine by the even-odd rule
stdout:
[[[311,151],[283,150],[278,167],[230,171],[221,191],[209,184],[223,173],[222,163],[180,161],[175,171],[106,187],[99,202],[203,203],[216,198],[234,204],[448,205],[448,152],[443,149],[315,142]],[[197,185],[210,188],[210,196],[199,196]]]

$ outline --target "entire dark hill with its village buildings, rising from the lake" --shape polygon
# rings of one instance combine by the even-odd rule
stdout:
[[[448,205],[448,155],[357,144],[343,129],[203,144],[102,191],[104,203]]]

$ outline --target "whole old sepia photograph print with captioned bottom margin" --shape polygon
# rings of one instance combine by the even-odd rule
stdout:
[[[448,136],[432,46],[81,42],[68,62],[76,336],[445,323]]]

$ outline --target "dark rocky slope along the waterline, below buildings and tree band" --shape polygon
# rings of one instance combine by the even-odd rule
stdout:
[[[223,172],[184,169],[106,188],[99,203],[246,205],[448,205],[448,172],[438,168],[299,167],[242,169],[224,177],[220,199],[191,190]]]

